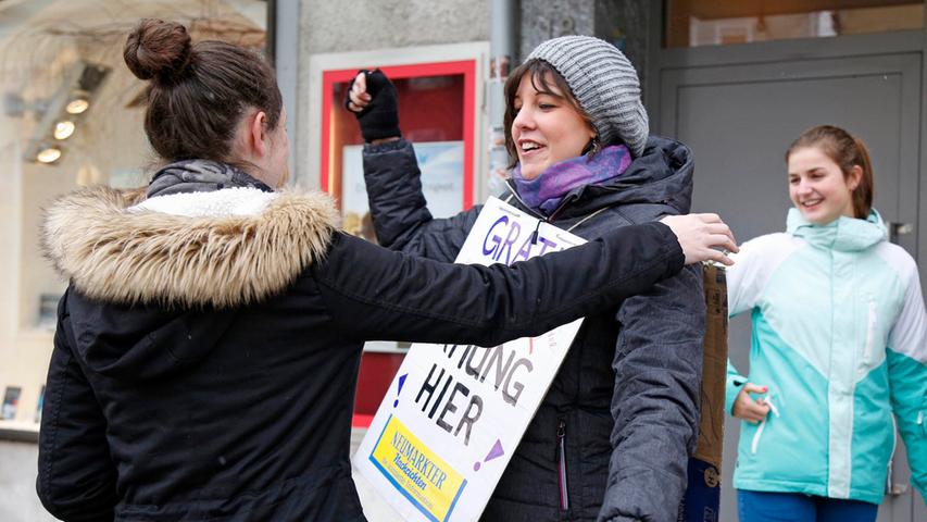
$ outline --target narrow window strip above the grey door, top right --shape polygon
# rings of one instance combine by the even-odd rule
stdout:
[[[912,0],[668,0],[666,47],[724,46],[924,27]]]

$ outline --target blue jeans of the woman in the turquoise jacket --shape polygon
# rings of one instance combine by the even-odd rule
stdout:
[[[737,490],[740,522],[874,522],[879,507],[802,493]]]

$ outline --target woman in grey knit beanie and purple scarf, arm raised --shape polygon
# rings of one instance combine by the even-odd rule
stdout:
[[[379,71],[358,78],[346,104],[368,141],[377,238],[452,260],[480,207],[433,219],[400,137],[396,89]],[[637,74],[613,45],[544,41],[504,91],[512,172],[501,197],[510,204],[588,240],[689,212],[691,154],[648,136]],[[586,318],[481,520],[677,520],[699,419],[701,282],[700,269],[687,269]]]

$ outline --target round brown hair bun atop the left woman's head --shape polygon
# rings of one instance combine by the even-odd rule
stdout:
[[[123,57],[140,79],[170,82],[187,67],[191,48],[190,35],[183,25],[142,18],[128,35]]]

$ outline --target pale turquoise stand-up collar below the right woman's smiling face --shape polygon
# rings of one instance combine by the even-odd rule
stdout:
[[[865,220],[844,215],[826,225],[815,225],[805,220],[801,211],[791,208],[786,229],[814,246],[845,252],[865,250],[888,238],[885,222],[875,209]]]

